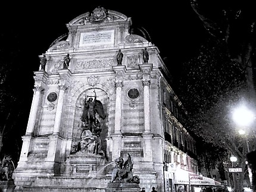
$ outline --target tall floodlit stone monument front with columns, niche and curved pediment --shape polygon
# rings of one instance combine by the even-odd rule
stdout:
[[[161,188],[165,68],[157,47],[131,33],[131,18],[103,7],[66,26],[39,55],[16,189],[104,191],[114,160],[127,154],[140,185]]]

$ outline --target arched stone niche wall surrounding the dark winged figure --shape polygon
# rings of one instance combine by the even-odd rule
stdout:
[[[105,119],[101,119],[96,115],[96,118],[101,122],[102,132],[99,136],[101,140],[102,150],[105,152],[107,150],[106,137],[108,136],[109,131],[111,131],[112,126],[109,125],[110,111],[111,105],[115,101],[115,89],[114,86],[110,83],[106,84],[95,84],[95,86],[89,86],[89,84],[84,84],[81,81],[77,81],[72,86],[70,90],[70,94],[68,96],[67,103],[67,118],[65,119],[66,125],[64,135],[67,139],[70,139],[70,146],[67,147],[67,155],[69,155],[73,151],[74,145],[77,144],[77,141],[80,140],[80,136],[82,134],[81,121],[80,117],[83,112],[83,105],[85,103],[86,96],[94,96],[93,90],[96,92],[97,100],[100,100],[104,106],[104,112],[106,115]],[[93,97],[94,99],[94,97]],[[106,154],[106,153],[105,153]]]

